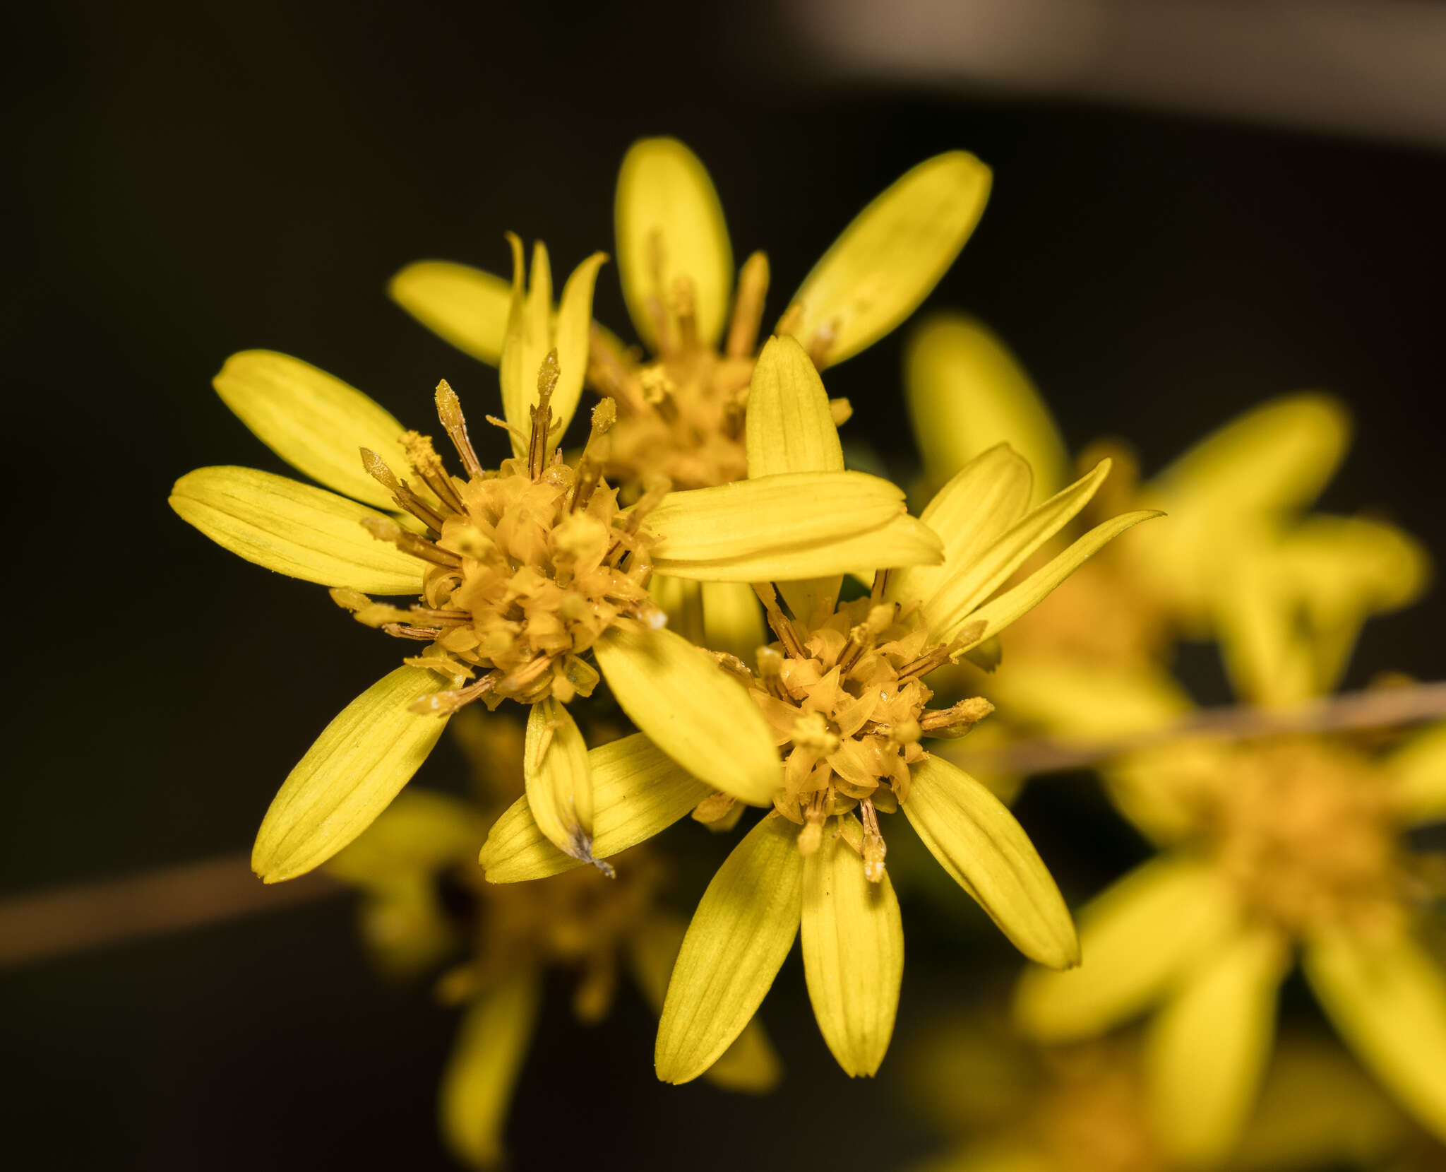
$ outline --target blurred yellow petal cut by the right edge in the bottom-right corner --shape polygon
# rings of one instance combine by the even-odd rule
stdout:
[[[1306,977],[1340,1036],[1437,1139],[1446,1140],[1446,977],[1407,935],[1322,935]]]

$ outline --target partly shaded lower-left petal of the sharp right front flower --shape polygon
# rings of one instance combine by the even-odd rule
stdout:
[[[792,823],[769,813],[724,859],[688,925],[658,1024],[664,1082],[690,1082],[762,1004],[798,935],[803,857]]]

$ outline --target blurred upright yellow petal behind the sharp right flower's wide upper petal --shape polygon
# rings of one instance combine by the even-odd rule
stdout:
[[[904,391],[928,479],[941,485],[982,451],[1006,443],[1034,470],[1038,496],[1069,479],[1054,417],[1004,343],[963,314],[937,314],[912,331]]]

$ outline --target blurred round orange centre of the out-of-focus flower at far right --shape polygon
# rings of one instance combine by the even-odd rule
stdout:
[[[1281,739],[1239,752],[1207,804],[1219,867],[1293,933],[1391,926],[1407,875],[1385,778],[1343,748]]]

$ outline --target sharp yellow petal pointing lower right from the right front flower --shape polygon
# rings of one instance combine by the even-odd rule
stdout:
[[[908,800],[899,804],[940,867],[1025,956],[1053,968],[1079,964],[1060,888],[1004,803],[940,757],[910,774]]]

